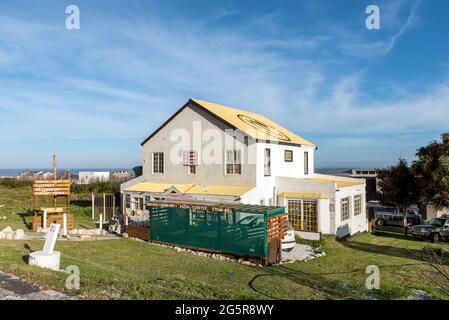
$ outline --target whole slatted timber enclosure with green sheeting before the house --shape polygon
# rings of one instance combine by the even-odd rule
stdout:
[[[148,201],[147,227],[129,224],[131,237],[270,265],[281,260],[285,208],[196,200]]]

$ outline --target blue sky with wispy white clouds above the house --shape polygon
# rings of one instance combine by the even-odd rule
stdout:
[[[81,28],[65,28],[76,4]],[[381,29],[365,28],[376,4]],[[449,129],[448,1],[0,3],[0,168],[132,167],[190,97],[262,113],[318,167],[386,166]]]

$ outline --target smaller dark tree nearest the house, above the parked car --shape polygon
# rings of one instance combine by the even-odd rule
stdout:
[[[406,160],[399,159],[397,165],[379,170],[378,179],[383,203],[394,205],[405,213],[410,205],[418,202],[417,181]]]

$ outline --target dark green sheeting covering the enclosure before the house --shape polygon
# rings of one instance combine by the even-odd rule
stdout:
[[[283,208],[232,212],[150,207],[150,240],[252,257],[267,257],[267,218]],[[263,208],[266,211],[262,211]]]

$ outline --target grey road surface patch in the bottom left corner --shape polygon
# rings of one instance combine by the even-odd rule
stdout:
[[[0,271],[0,300],[68,300],[69,296]]]

